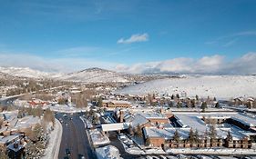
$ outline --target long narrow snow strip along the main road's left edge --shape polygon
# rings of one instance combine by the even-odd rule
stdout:
[[[46,147],[46,153],[42,159],[53,158],[57,159],[59,147],[62,138],[62,125],[56,120],[55,129],[50,134],[49,144]]]

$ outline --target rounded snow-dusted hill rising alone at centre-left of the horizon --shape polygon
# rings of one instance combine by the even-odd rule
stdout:
[[[58,79],[87,83],[126,83],[129,81],[125,75],[101,68],[88,68],[82,71],[60,76]]]

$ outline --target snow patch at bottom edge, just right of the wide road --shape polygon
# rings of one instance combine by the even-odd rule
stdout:
[[[96,149],[97,159],[122,159],[118,148],[113,145],[107,145]]]

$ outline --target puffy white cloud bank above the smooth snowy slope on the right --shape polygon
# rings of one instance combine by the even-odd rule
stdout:
[[[174,58],[166,61],[118,67],[118,71],[129,73],[179,73],[212,75],[256,74],[256,53],[249,53],[228,62],[222,55],[203,56],[200,59]]]

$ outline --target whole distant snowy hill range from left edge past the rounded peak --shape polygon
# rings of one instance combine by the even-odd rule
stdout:
[[[0,77],[4,78],[6,75],[21,78],[34,79],[56,79],[73,82],[85,83],[143,83],[151,80],[171,77],[171,75],[131,75],[124,73],[117,73],[101,68],[87,68],[82,71],[64,74],[64,73],[47,73],[34,70],[28,67],[0,67]]]

